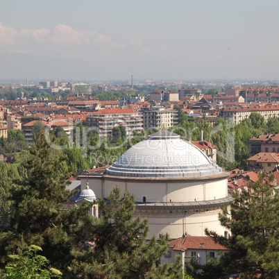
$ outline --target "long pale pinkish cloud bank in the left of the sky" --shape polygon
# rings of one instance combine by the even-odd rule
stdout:
[[[117,39],[116,39],[117,40]],[[140,37],[112,40],[96,30],[76,30],[67,24],[53,28],[15,28],[0,23],[0,48],[40,58],[96,61],[142,61],[153,57],[152,48]]]

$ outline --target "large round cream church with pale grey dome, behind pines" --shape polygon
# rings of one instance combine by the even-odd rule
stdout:
[[[109,167],[85,171],[96,197],[116,185],[135,195],[136,214],[149,220],[149,236],[204,236],[205,228],[223,234],[218,214],[228,196],[228,173],[180,135],[160,130],[126,151]]]

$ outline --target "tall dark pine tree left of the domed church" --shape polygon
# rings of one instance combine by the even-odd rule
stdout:
[[[43,255],[54,267],[64,269],[65,274],[71,262],[72,246],[84,237],[79,230],[81,219],[87,218],[89,205],[71,210],[63,205],[71,196],[65,187],[69,178],[67,169],[60,169],[65,167],[64,160],[60,151],[47,144],[43,133],[35,139],[35,149],[24,163],[23,179],[12,190],[10,226],[0,235],[2,262],[8,259],[7,255],[21,255],[34,244],[42,247]]]

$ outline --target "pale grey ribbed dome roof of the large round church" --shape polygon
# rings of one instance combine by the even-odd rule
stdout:
[[[126,151],[106,169],[110,176],[190,178],[221,174],[214,164],[194,144],[180,135],[161,130]]]

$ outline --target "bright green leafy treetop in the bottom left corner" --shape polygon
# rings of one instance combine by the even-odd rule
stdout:
[[[49,267],[49,260],[42,255],[37,255],[42,251],[40,246],[28,246],[27,251],[22,255],[9,255],[12,262],[8,262],[5,271],[2,272],[3,279],[51,279],[62,278],[62,273],[58,269]]]

